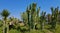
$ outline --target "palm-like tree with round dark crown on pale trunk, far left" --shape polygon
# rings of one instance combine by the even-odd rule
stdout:
[[[3,33],[5,33],[5,25],[7,25],[8,23],[6,22],[6,20],[7,20],[7,17],[10,15],[10,13],[9,13],[9,11],[8,10],[6,10],[6,9],[4,9],[3,11],[2,11],[2,13],[1,13],[1,16],[3,16],[4,18],[4,22],[3,22],[3,26],[4,26],[4,28],[3,28]],[[8,33],[8,26],[7,26],[7,33]]]

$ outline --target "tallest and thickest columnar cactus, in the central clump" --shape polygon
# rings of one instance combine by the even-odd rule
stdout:
[[[36,3],[32,3],[32,8],[31,8],[31,28],[32,29],[34,29],[35,17],[36,17]]]

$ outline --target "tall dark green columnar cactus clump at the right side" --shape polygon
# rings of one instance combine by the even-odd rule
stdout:
[[[52,25],[52,29],[55,29],[55,27],[56,27],[56,23],[58,22],[58,20],[57,20],[57,17],[58,17],[58,11],[59,11],[59,9],[58,9],[58,7],[57,8],[53,8],[53,7],[51,7],[51,11],[52,11],[52,22],[51,22],[51,25]]]

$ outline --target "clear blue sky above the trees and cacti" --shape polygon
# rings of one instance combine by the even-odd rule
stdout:
[[[3,9],[9,10],[10,16],[21,18],[21,13],[31,3],[37,3],[37,7],[41,7],[41,11],[51,13],[50,7],[60,7],[60,0],[0,0],[0,12]]]

